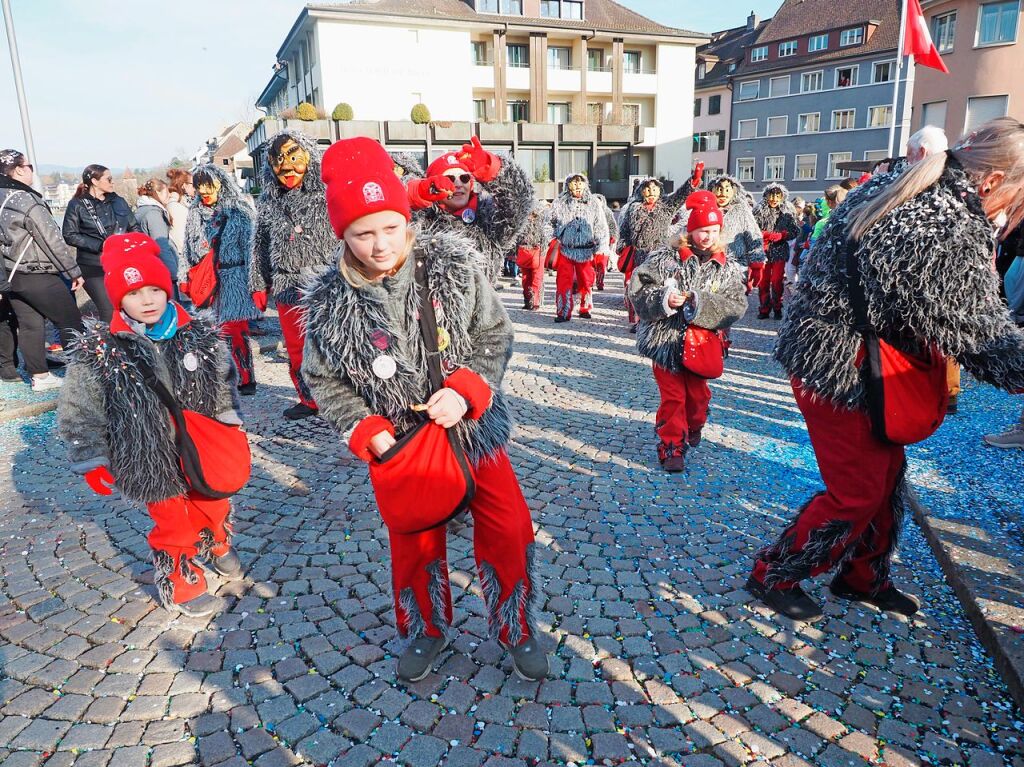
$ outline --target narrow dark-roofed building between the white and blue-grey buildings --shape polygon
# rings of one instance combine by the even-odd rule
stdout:
[[[732,115],[731,79],[743,62],[744,49],[767,22],[751,13],[743,27],[712,33],[711,42],[697,48],[693,97],[693,162],[705,164],[712,178],[729,168],[729,123]],[[730,171],[731,172],[731,171]]]

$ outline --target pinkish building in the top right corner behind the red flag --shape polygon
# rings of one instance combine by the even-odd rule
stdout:
[[[912,126],[937,125],[950,143],[992,118],[1024,118],[1020,0],[925,0],[932,41],[949,74],[919,67]]]

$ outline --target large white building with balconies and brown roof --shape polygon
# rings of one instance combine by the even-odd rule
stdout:
[[[424,162],[468,125],[488,148],[512,152],[543,197],[582,171],[622,200],[631,176],[689,175],[691,73],[706,40],[612,0],[309,4],[257,105],[279,118],[304,100],[329,115],[348,103],[378,126],[371,135]],[[400,125],[421,102],[435,123]],[[335,123],[325,140],[354,129]]]

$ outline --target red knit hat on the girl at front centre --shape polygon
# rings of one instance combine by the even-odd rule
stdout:
[[[353,221],[371,213],[392,210],[412,219],[409,193],[394,174],[394,161],[372,138],[338,141],[324,153],[321,168],[328,216],[339,240]]]

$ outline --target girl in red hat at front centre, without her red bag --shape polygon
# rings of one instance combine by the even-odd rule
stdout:
[[[506,453],[512,422],[501,391],[512,324],[465,238],[409,226],[408,194],[392,168],[369,138],[338,141],[325,153],[328,210],[343,245],[337,264],[303,296],[303,372],[322,417],[365,461],[418,423],[412,404],[426,402],[427,418],[455,430],[475,469],[469,510],[488,624],[515,672],[538,681],[548,658],[535,624],[534,526]],[[422,298],[420,280],[428,286]],[[446,376],[432,394],[414,310],[423,298],[435,307]],[[443,524],[389,535],[395,624],[409,642],[397,675],[407,682],[429,674],[453,639],[445,539]]]

